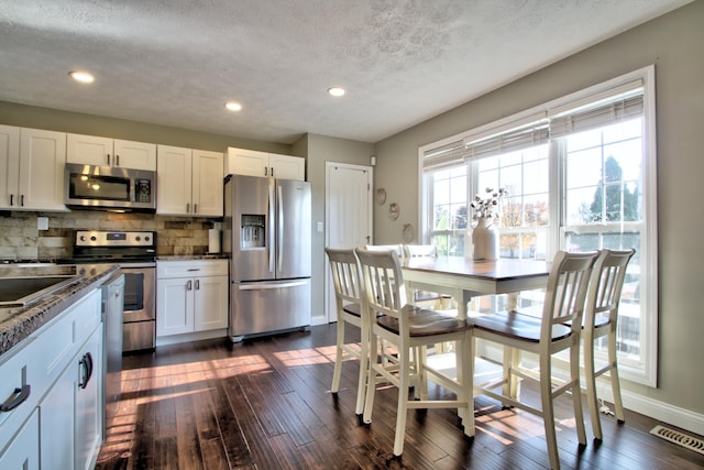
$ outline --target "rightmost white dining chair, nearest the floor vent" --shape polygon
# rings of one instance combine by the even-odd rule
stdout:
[[[636,250],[602,250],[594,263],[586,295],[582,342],[584,345],[584,376],[586,403],[592,419],[594,437],[602,440],[602,423],[596,394],[596,379],[608,372],[614,395],[616,419],[624,423],[624,404],[620,397],[618,363],[616,359],[616,331],[620,294],[628,262]],[[595,370],[594,350],[600,338],[606,337],[607,362]]]

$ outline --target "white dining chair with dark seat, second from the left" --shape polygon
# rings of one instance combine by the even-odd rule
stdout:
[[[364,280],[363,310],[371,319],[370,379],[363,420],[372,422],[375,382],[386,380],[398,389],[396,412],[396,435],[394,455],[400,456],[406,435],[406,417],[413,408],[457,408],[464,425],[464,434],[474,436],[473,401],[471,398],[472,362],[469,327],[465,320],[441,313],[418,308],[406,303],[406,292],[398,255],[394,250],[355,250],[362,266]],[[382,315],[376,315],[382,314]],[[392,343],[398,351],[398,367],[384,365],[378,350],[378,341]],[[457,379],[449,378],[431,369],[425,362],[422,350],[437,342],[455,341]],[[421,351],[420,353],[414,351]],[[414,381],[421,387],[419,400],[409,401],[409,387]],[[427,380],[454,392],[457,400],[429,400]]]

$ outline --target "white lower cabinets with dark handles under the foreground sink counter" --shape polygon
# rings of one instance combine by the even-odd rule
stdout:
[[[0,361],[0,376],[21,376],[15,392],[28,391],[0,414],[0,469],[95,467],[103,416],[100,302],[99,291],[88,294]]]

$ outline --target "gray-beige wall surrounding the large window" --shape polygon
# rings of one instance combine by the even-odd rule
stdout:
[[[600,43],[480,99],[376,144],[376,186],[402,206],[398,222],[374,215],[376,243],[402,241],[399,222],[418,227],[418,146],[656,64],[658,129],[658,387],[626,383],[646,398],[704,413],[702,332],[696,295],[704,280],[698,206],[704,174],[704,2]]]

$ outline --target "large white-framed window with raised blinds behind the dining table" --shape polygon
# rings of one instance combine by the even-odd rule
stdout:
[[[419,150],[424,242],[439,253],[469,253],[469,201],[487,187],[509,192],[498,220],[502,258],[636,248],[619,365],[649,385],[657,370],[653,90],[651,66]],[[521,293],[520,306],[538,309],[541,298]]]

